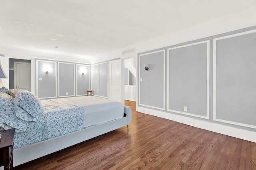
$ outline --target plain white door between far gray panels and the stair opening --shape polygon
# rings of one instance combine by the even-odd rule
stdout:
[[[122,67],[121,60],[109,62],[109,98],[123,103],[122,101]]]

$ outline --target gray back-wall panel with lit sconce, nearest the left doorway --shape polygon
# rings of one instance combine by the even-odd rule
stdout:
[[[41,99],[57,97],[56,61],[36,60],[36,94]]]

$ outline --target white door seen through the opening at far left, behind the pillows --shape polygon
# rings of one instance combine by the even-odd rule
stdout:
[[[14,88],[31,92],[31,64],[14,62]]]

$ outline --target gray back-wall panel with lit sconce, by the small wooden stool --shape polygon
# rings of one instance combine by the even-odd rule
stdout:
[[[87,95],[90,90],[90,66],[76,64],[76,96]]]

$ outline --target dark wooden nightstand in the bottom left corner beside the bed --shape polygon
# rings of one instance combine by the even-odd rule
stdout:
[[[4,166],[5,170],[12,170],[12,150],[15,129],[0,131],[2,138],[0,139],[0,166]]]

